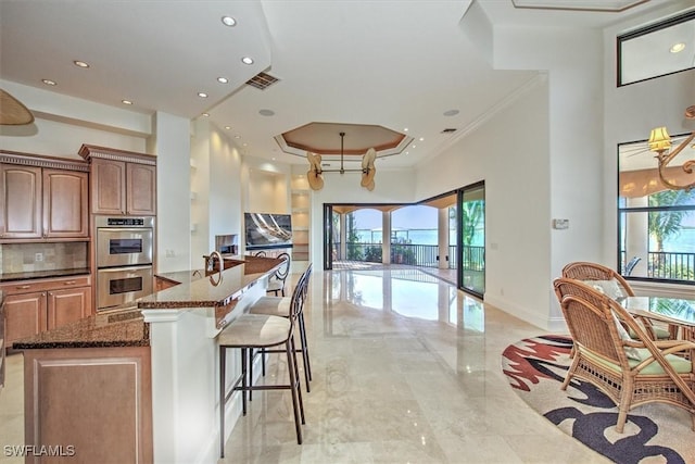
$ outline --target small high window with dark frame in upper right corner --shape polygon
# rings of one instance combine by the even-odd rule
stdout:
[[[695,10],[618,37],[618,86],[695,67]]]

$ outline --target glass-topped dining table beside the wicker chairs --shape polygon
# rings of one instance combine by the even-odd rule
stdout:
[[[669,297],[623,297],[617,301],[631,314],[668,326],[672,339],[695,341],[695,300]]]

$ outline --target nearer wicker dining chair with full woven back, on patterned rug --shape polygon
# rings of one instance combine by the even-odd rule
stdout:
[[[618,406],[620,434],[628,412],[652,402],[686,410],[695,430],[695,373],[685,356],[695,352],[695,342],[652,340],[616,300],[581,281],[557,278],[554,288],[576,348],[561,389],[577,377],[605,392]],[[635,338],[622,330],[618,318]]]

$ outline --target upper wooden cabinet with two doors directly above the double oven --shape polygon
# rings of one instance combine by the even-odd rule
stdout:
[[[91,163],[91,212],[156,215],[156,156],[84,145]]]

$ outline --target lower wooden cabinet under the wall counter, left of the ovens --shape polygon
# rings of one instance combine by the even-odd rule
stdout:
[[[91,314],[89,276],[18,280],[0,285],[5,292],[5,346]]]

